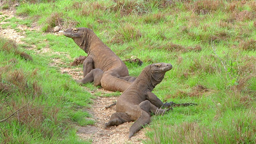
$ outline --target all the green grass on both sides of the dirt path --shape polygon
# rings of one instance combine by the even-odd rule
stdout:
[[[60,74],[58,68],[49,66],[52,57],[59,58],[68,65],[74,58],[86,55],[72,39],[49,33],[54,26],[59,25],[63,29],[91,28],[122,60],[131,57],[142,60],[144,62],[142,66],[126,63],[132,76],[138,76],[148,64],[168,62],[173,65],[173,69],[166,73],[162,83],[156,86],[154,93],[163,101],[196,102],[198,106],[174,108],[164,116],[154,116],[145,143],[256,142],[255,1],[37,0],[30,3],[21,0],[17,2],[21,3],[16,8],[17,15],[26,16],[26,19],[7,20],[6,17],[1,16],[0,20],[7,22],[1,25],[1,28],[8,26],[14,28],[17,24],[31,26],[32,22],[37,22],[41,32],[26,31],[24,39],[26,44],[18,46],[22,51],[25,50],[30,54],[33,61],[26,58],[24,60],[19,56],[19,52],[6,54],[5,51],[0,51],[1,61],[4,62],[1,67],[10,68],[10,72],[18,70],[24,73],[28,77],[26,79],[28,88],[32,91],[34,82],[42,87],[41,93],[32,101],[33,104],[36,103],[36,107],[54,105],[52,108],[56,107],[60,113],[50,118],[43,116],[42,124],[51,125],[53,130],[49,130],[51,133],[48,134],[46,130],[39,132],[35,128],[34,131],[38,131],[35,135],[38,139],[46,143],[54,143],[56,142],[54,140],[59,139],[78,142],[74,128],[66,132],[67,138],[59,134],[61,130],[67,130],[65,124],[92,123],[82,119],[88,114],[79,109],[88,106],[90,94],[77,86],[70,76]],[[8,8],[8,4],[11,3],[12,1],[7,1],[2,9]],[[16,30],[19,31],[18,28]],[[50,52],[38,55],[35,51],[26,50],[31,46],[36,46],[38,50],[50,48]],[[60,55],[56,55],[56,52],[60,52]],[[17,63],[15,60],[10,61],[13,57],[18,60]],[[36,74],[33,75],[34,71]],[[3,73],[1,82],[15,87],[15,84],[9,84],[6,78],[8,75]],[[86,86],[90,90],[95,88],[90,84]],[[24,92],[26,94],[26,91]],[[84,96],[84,93],[87,96]],[[33,97],[33,92],[29,94],[28,97],[23,96],[23,93],[20,94],[25,97],[24,103]],[[118,94],[114,93],[114,96]],[[19,100],[17,94],[14,95],[6,99],[9,105],[15,98]],[[96,95],[110,96],[98,93]],[[0,108],[6,108],[7,102],[1,101]],[[12,107],[9,109],[16,110]],[[45,110],[48,111],[49,108]],[[2,118],[8,116],[7,110],[5,111],[6,114]],[[75,115],[71,111],[76,112]],[[54,118],[57,122],[50,123]],[[17,119],[12,119],[14,120],[9,123],[0,123],[2,129],[10,127],[1,133],[3,138],[9,138],[10,142],[14,140],[22,142],[26,140],[25,138],[36,139],[29,134],[30,128],[25,127],[30,124],[24,125]],[[65,119],[69,121],[63,124]],[[23,128],[24,133],[18,134],[15,127]],[[16,134],[14,138],[8,137],[11,131]],[[0,141],[5,140],[3,138]]]

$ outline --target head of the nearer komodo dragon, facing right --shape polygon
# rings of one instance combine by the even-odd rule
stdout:
[[[148,70],[150,68],[150,70]],[[150,74],[150,82],[153,87],[155,87],[157,84],[159,84],[163,78],[164,74],[172,69],[172,64],[167,63],[156,63],[151,64],[148,66],[148,68],[145,68],[147,70],[147,73]]]

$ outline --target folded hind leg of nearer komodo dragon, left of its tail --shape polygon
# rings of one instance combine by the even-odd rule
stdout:
[[[110,116],[110,121],[105,124],[105,128],[108,126],[118,126],[124,122],[131,122],[130,116],[124,112],[115,112]]]

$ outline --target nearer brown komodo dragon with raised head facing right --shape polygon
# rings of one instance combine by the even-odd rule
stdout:
[[[171,103],[163,103],[152,90],[172,69],[171,64],[157,63],[144,68],[138,78],[121,94],[116,102],[116,112],[110,117],[108,126],[118,126],[135,121],[130,127],[130,139],[138,130],[150,122],[150,114],[162,115],[171,110]],[[162,109],[162,107],[169,107]]]

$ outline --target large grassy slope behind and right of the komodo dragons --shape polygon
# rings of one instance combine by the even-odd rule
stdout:
[[[43,31],[56,25],[91,28],[121,59],[144,62],[127,64],[132,76],[151,63],[173,64],[154,93],[199,105],[154,116],[146,143],[255,143],[255,8],[250,0],[58,0],[24,3],[17,12]],[[27,34],[38,49],[84,55],[64,36]]]

